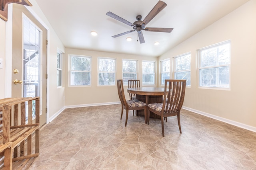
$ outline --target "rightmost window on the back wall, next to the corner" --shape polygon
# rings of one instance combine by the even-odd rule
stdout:
[[[155,62],[142,61],[142,85],[155,84]]]

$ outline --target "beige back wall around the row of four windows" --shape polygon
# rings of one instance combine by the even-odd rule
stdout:
[[[68,87],[68,55],[86,55],[92,57],[91,86]],[[142,80],[142,61],[156,61],[157,57],[143,57],[137,55],[125,55],[117,53],[104,53],[78,49],[66,49],[66,106],[104,104],[120,102],[117,94],[117,86],[97,86],[97,59],[109,57],[116,59],[116,79],[122,79],[122,59],[138,60],[138,79]],[[156,64],[157,66],[157,64]],[[157,70],[157,69],[156,69]],[[142,82],[141,82],[142,85]],[[127,86],[124,86],[127,88]],[[126,99],[128,100],[128,93]]]

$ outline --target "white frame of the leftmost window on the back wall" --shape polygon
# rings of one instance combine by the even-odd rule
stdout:
[[[92,84],[92,57],[91,56],[86,56],[86,55],[68,55],[69,59],[68,59],[68,86],[70,87],[90,87],[91,84]],[[87,70],[71,70],[71,58],[72,57],[83,57],[83,58],[89,58],[90,59],[90,71],[87,71]],[[71,72],[89,72],[90,73],[90,84],[89,85],[71,85]]]

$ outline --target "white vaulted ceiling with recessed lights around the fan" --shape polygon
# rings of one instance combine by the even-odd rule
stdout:
[[[66,48],[158,57],[249,0],[163,0],[167,6],[146,27],[170,27],[171,33],[143,31],[111,36],[132,27],[106,15],[112,12],[133,23],[142,20],[158,0],[36,0]],[[92,36],[96,31],[98,36]],[[132,37],[132,41],[126,41]],[[159,41],[159,45],[154,42]]]

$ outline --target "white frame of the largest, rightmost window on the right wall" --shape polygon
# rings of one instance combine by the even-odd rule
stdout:
[[[219,47],[224,44],[229,44],[229,64],[222,64],[222,65],[216,65],[216,66],[208,66],[208,67],[201,67],[201,55],[200,52],[205,49],[210,49],[214,47]],[[205,89],[215,89],[215,90],[230,90],[230,64],[231,64],[231,41],[224,41],[221,43],[217,43],[214,45],[210,45],[208,47],[204,47],[202,49],[198,49],[198,88],[205,88]],[[200,70],[202,69],[209,69],[209,68],[221,68],[221,67],[228,67],[229,68],[229,87],[209,87],[209,86],[200,86]],[[218,82],[218,80],[216,80]]]

